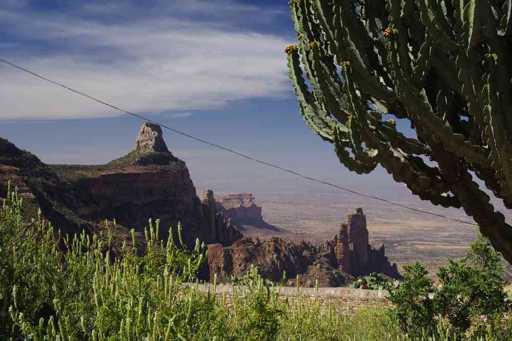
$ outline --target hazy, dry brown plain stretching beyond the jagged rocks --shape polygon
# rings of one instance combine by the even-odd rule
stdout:
[[[406,189],[390,193],[382,197],[402,205],[473,222],[463,210],[433,206],[408,195]],[[225,194],[219,192],[216,196]],[[337,233],[339,223],[345,220],[346,214],[352,213],[356,207],[362,207],[370,232],[370,243],[384,243],[387,257],[397,263],[399,270],[403,264],[418,261],[427,264],[429,272],[435,272],[439,265],[446,263],[447,257],[462,257],[468,245],[476,239],[477,229],[472,225],[420,214],[329,188],[262,191],[254,195],[256,204],[262,206],[264,220],[283,231],[249,229],[243,231],[244,235],[259,238],[277,235],[297,241],[324,242]],[[507,213],[499,204],[496,206]],[[511,219],[512,215],[508,213],[506,217]],[[507,272],[510,280],[512,267]]]

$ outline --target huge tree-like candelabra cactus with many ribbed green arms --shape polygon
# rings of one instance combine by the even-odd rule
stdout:
[[[350,171],[380,164],[421,199],[462,207],[512,262],[512,227],[473,179],[512,208],[512,0],[289,4],[289,75],[313,132]]]

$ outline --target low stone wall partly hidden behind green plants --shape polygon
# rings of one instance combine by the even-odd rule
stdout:
[[[212,284],[189,283],[188,286],[196,288],[199,292],[213,292]],[[279,293],[277,293],[279,290]],[[245,286],[231,286],[219,284],[215,287],[215,295],[221,297],[226,304],[232,304],[235,294],[249,292]],[[331,307],[338,311],[354,311],[363,307],[392,307],[393,303],[386,299],[386,290],[364,290],[351,288],[296,288],[275,287],[271,288],[273,295],[278,295],[279,300],[288,301],[289,304],[308,302],[320,304],[322,310]]]

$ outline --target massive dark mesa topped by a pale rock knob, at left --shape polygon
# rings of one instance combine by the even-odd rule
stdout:
[[[215,204],[196,196],[185,162],[168,150],[158,125],[142,124],[134,150],[106,165],[46,165],[7,140],[0,142],[0,150],[4,145],[11,154],[0,159],[0,189],[8,179],[17,181],[43,215],[66,232],[113,218],[140,232],[152,218],[160,219],[162,238],[181,222],[189,245],[199,238],[228,246],[242,237],[222,217],[207,218]]]

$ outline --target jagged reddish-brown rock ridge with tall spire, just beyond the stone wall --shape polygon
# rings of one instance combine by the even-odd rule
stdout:
[[[334,239],[323,245],[293,244],[280,238],[265,242],[243,238],[230,247],[209,245],[208,261],[210,278],[217,273],[220,281],[243,274],[251,264],[264,278],[274,281],[282,278],[283,271],[292,282],[299,275],[303,286],[313,286],[315,280],[320,286],[341,286],[353,276],[370,272],[400,278],[396,264],[390,264],[385,257],[384,246],[375,249],[368,244],[366,217],[360,208],[356,214],[347,215],[346,224],[340,224]]]

